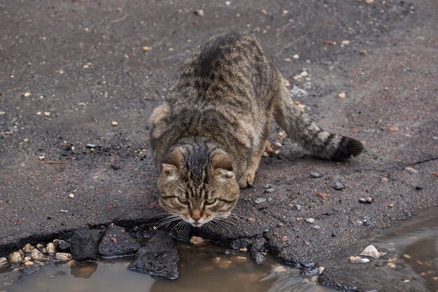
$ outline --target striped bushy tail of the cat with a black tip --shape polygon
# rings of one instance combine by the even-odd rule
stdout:
[[[282,83],[280,94],[274,104],[274,116],[290,139],[318,158],[327,160],[345,160],[359,155],[363,150],[360,141],[332,134],[313,123],[290,97]]]

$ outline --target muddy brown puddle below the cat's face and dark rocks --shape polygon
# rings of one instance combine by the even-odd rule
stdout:
[[[154,279],[127,270],[133,258],[101,259],[98,263],[48,263],[38,272],[24,275],[0,271],[0,292],[102,291],[102,292],[325,292],[316,277],[303,278],[299,270],[279,265],[268,258],[255,265],[247,253],[221,254],[218,246],[178,245],[180,261],[176,280]],[[236,256],[244,257],[236,260]],[[215,263],[220,257],[222,264]],[[233,260],[225,265],[226,260]]]

